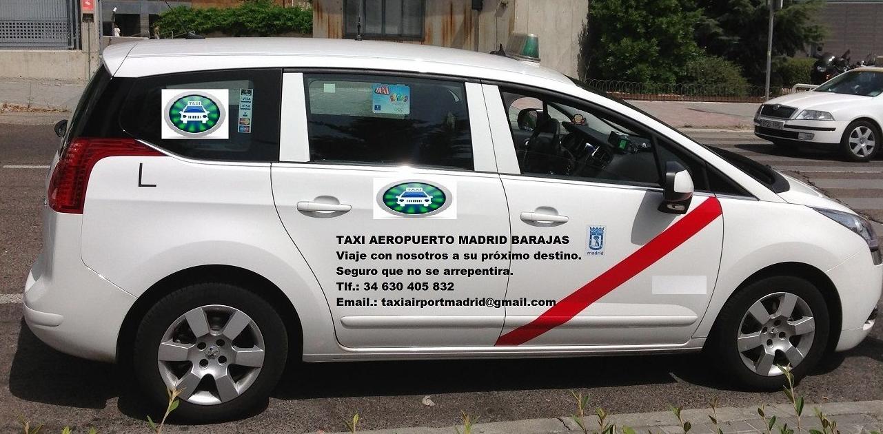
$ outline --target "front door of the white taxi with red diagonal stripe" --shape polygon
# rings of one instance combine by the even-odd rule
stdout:
[[[520,172],[501,176],[512,231],[507,298],[556,302],[513,303],[497,345],[690,340],[721,259],[717,198],[700,192],[686,214],[662,213],[660,161],[677,157],[651,131],[566,97],[487,87],[500,95],[487,97],[488,108],[505,110],[495,117],[520,138],[502,155],[514,153]]]

